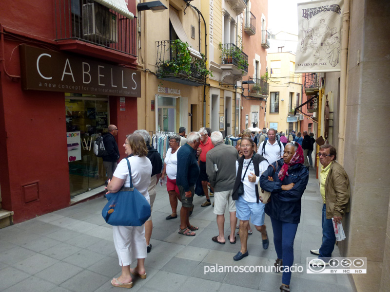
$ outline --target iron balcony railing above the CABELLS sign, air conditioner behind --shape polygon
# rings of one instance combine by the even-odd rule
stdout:
[[[93,0],[55,0],[56,40],[77,39],[137,56],[136,19]]]

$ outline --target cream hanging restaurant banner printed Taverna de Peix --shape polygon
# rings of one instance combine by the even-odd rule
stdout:
[[[340,71],[343,0],[298,3],[295,73]]]

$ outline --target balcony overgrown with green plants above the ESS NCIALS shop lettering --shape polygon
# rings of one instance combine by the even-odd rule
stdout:
[[[209,71],[203,55],[178,39],[156,41],[156,46],[158,78],[192,86],[205,84]]]

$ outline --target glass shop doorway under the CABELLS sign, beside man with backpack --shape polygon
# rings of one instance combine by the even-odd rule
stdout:
[[[107,132],[108,99],[95,96],[66,96],[66,136],[70,196],[90,191],[107,179],[101,158],[95,156],[96,138]]]

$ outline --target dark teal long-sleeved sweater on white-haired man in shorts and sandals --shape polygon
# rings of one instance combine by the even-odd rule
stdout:
[[[199,165],[196,161],[196,150],[188,144],[184,144],[177,150],[176,184],[181,185],[185,192],[190,186],[195,185],[199,176]]]

